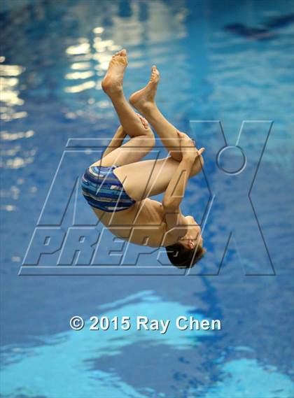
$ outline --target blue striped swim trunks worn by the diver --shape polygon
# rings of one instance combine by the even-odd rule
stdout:
[[[113,213],[126,210],[134,203],[113,170],[118,166],[90,166],[82,177],[83,195],[90,206]]]

